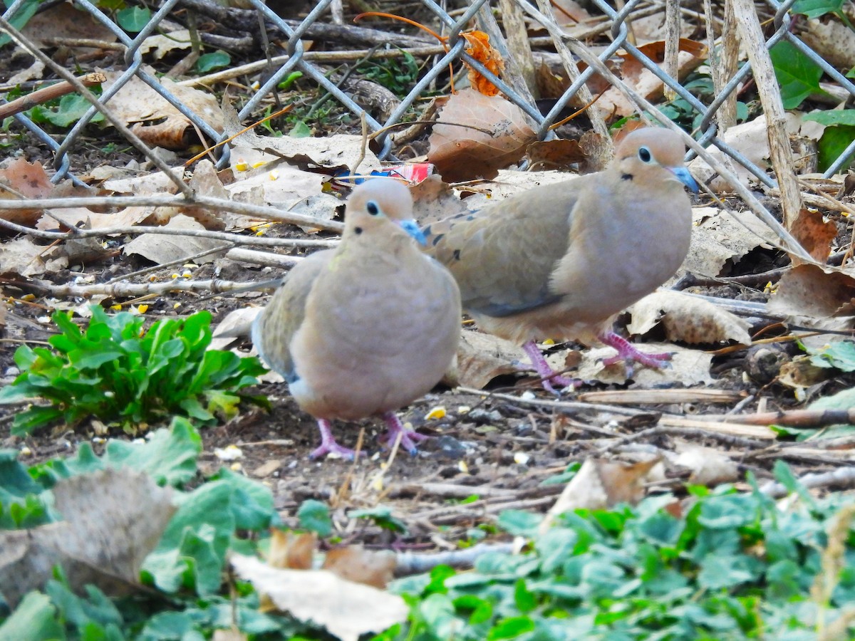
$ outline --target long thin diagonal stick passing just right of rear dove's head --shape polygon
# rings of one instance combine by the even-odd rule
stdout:
[[[803,259],[805,262],[815,263],[811,258],[811,255],[799,244],[793,235],[790,232],[787,232],[781,223],[775,220],[775,216],[773,216],[768,209],[763,206],[763,203],[758,201],[757,197],[754,197],[752,192],[745,186],[742,185],[740,180],[734,176],[733,172],[728,171],[722,162],[713,157],[710,152],[705,150],[694,138],[688,136],[686,132],[683,132],[679,126],[676,126],[674,122],[669,121],[664,115],[662,115],[659,110],[652,105],[645,97],[641,96],[638,91],[635,91],[633,88],[626,85],[621,79],[619,79],[615,74],[613,74],[610,68],[606,67],[604,63],[597,57],[594,56],[587,47],[576,40],[575,38],[570,38],[557,26],[554,20],[546,15],[543,15],[537,9],[534,9],[528,3],[522,3],[522,9],[524,9],[528,15],[531,15],[535,20],[539,21],[545,29],[550,32],[554,38],[556,38],[556,45],[560,44],[562,48],[569,47],[577,56],[581,58],[582,61],[586,62],[588,66],[593,67],[598,74],[607,79],[611,85],[615,86],[619,91],[621,91],[629,100],[636,104],[643,112],[646,112],[648,115],[652,115],[659,123],[663,126],[668,127],[671,131],[679,133],[683,142],[687,144],[692,150],[694,150],[699,157],[703,158],[706,163],[712,168],[713,171],[718,173],[723,179],[727,180],[736,194],[742,198],[743,201],[748,205],[748,207],[758,215],[761,221],[764,221],[766,225],[768,225],[772,231],[781,238],[781,241],[787,246],[787,250],[793,254],[794,256],[799,256],[799,258]],[[564,40],[567,41],[567,44],[564,44]]]

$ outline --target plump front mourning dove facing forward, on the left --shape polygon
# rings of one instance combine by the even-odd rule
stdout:
[[[321,429],[314,458],[352,457],[330,421],[381,415],[393,443],[415,452],[424,438],[395,410],[431,390],[457,351],[460,292],[413,238],[410,190],[372,179],[351,195],[345,232],[334,250],[315,252],[292,269],[252,325],[252,342],[288,381],[301,409]]]

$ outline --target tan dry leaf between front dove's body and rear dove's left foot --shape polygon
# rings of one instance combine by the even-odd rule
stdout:
[[[481,390],[497,376],[519,372],[515,361],[525,355],[518,345],[481,332],[463,332],[457,344],[457,368],[445,374],[448,385]]]

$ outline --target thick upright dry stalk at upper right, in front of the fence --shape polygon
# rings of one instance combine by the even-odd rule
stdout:
[[[754,82],[757,84],[760,103],[763,104],[766,115],[769,154],[772,167],[775,168],[775,178],[778,179],[778,188],[781,190],[784,225],[791,229],[799,217],[802,202],[793,167],[793,151],[787,135],[787,114],[781,102],[781,89],[775,78],[775,68],[772,67],[772,59],[766,49],[766,40],[753,0],[733,0],[733,5],[740,42],[748,52]]]

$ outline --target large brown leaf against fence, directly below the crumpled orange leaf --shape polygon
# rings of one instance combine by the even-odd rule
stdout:
[[[525,113],[514,103],[464,89],[439,112],[428,158],[446,182],[491,179],[498,169],[519,161],[534,138]]]

